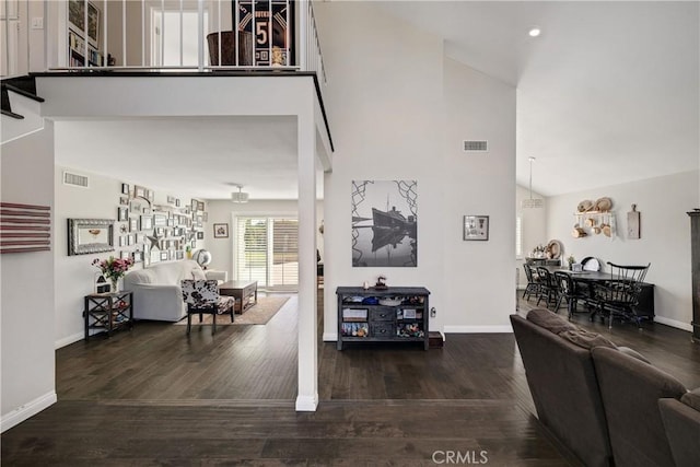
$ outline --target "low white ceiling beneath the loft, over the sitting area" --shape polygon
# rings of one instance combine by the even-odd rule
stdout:
[[[296,119],[62,120],[56,122],[56,161],[205,199],[230,199],[235,185],[250,199],[296,199]]]

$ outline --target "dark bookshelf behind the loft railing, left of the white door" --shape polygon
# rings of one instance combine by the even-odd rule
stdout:
[[[88,27],[85,27],[88,5]],[[105,65],[100,47],[100,17],[102,12],[93,2],[69,0],[68,2],[68,61],[70,67],[102,67]],[[88,60],[85,60],[85,34],[88,35]]]

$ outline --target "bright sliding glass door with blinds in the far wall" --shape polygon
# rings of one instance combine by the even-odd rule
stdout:
[[[290,218],[237,218],[236,278],[266,289],[299,284],[299,221]]]

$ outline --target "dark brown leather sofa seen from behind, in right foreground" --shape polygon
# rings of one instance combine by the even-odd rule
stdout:
[[[687,393],[673,376],[549,311],[511,315],[511,324],[537,417],[581,464],[700,465],[674,462],[658,408],[660,399],[681,404]],[[700,452],[698,437],[688,445],[682,433],[678,444]]]

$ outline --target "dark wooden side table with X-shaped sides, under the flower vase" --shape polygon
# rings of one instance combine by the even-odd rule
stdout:
[[[83,310],[85,340],[90,329],[102,329],[112,337],[112,332],[128,327],[133,328],[133,293],[109,292],[85,295]],[[102,334],[102,332],[98,332]]]

